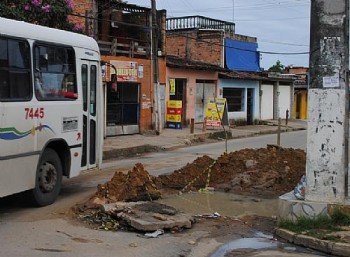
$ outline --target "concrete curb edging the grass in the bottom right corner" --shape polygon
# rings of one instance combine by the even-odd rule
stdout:
[[[295,245],[308,247],[335,256],[350,256],[350,244],[321,240],[281,228],[277,228],[275,230],[275,234],[287,242]]]

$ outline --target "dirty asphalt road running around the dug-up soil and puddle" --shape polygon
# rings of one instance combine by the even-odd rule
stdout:
[[[306,132],[285,133],[281,139],[282,146],[305,148]],[[231,140],[228,151],[265,147],[266,144],[275,142],[275,135]],[[26,207],[25,204],[18,202],[16,197],[1,199],[0,257],[222,256],[217,250],[225,247],[227,242],[207,238],[205,228],[175,235],[165,234],[156,239],[145,239],[136,233],[92,230],[73,222],[67,215],[71,206],[87,199],[95,192],[96,185],[108,181],[116,170],[126,171],[136,162],[141,162],[152,175],[158,175],[171,172],[203,154],[217,157],[224,152],[224,146],[224,142],[202,144],[104,163],[102,172],[89,172],[65,181],[58,201],[40,209]],[[320,256],[317,253],[304,252],[288,246],[254,249],[254,244],[247,246],[240,245],[240,241],[238,244],[235,240],[232,242],[236,245],[234,249],[251,247],[254,250],[240,256]],[[271,245],[270,243],[269,246]],[[234,249],[229,248],[230,251]]]

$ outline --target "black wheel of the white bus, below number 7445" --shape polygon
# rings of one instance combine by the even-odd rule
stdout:
[[[62,163],[56,151],[48,148],[42,154],[36,171],[33,204],[46,206],[55,202],[61,191]]]

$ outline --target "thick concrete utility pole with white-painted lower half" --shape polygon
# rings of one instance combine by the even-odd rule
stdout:
[[[348,2],[311,1],[307,201],[348,196]]]

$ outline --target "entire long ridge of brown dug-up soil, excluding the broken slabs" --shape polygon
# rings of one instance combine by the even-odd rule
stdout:
[[[127,174],[115,173],[109,182],[98,185],[90,204],[149,201],[160,198],[160,190],[188,192],[208,187],[273,197],[293,190],[305,174],[305,161],[303,150],[268,147],[231,152],[217,160],[203,156],[159,177],[150,176],[138,163]]]

